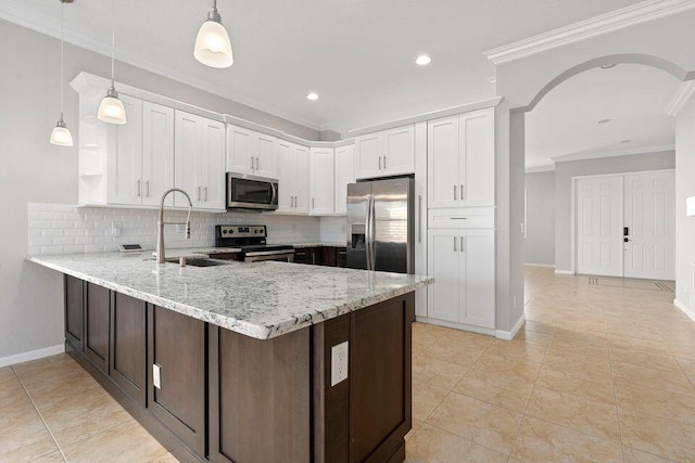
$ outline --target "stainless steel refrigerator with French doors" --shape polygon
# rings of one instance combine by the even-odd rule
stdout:
[[[348,185],[348,267],[414,273],[415,181],[403,177]]]

